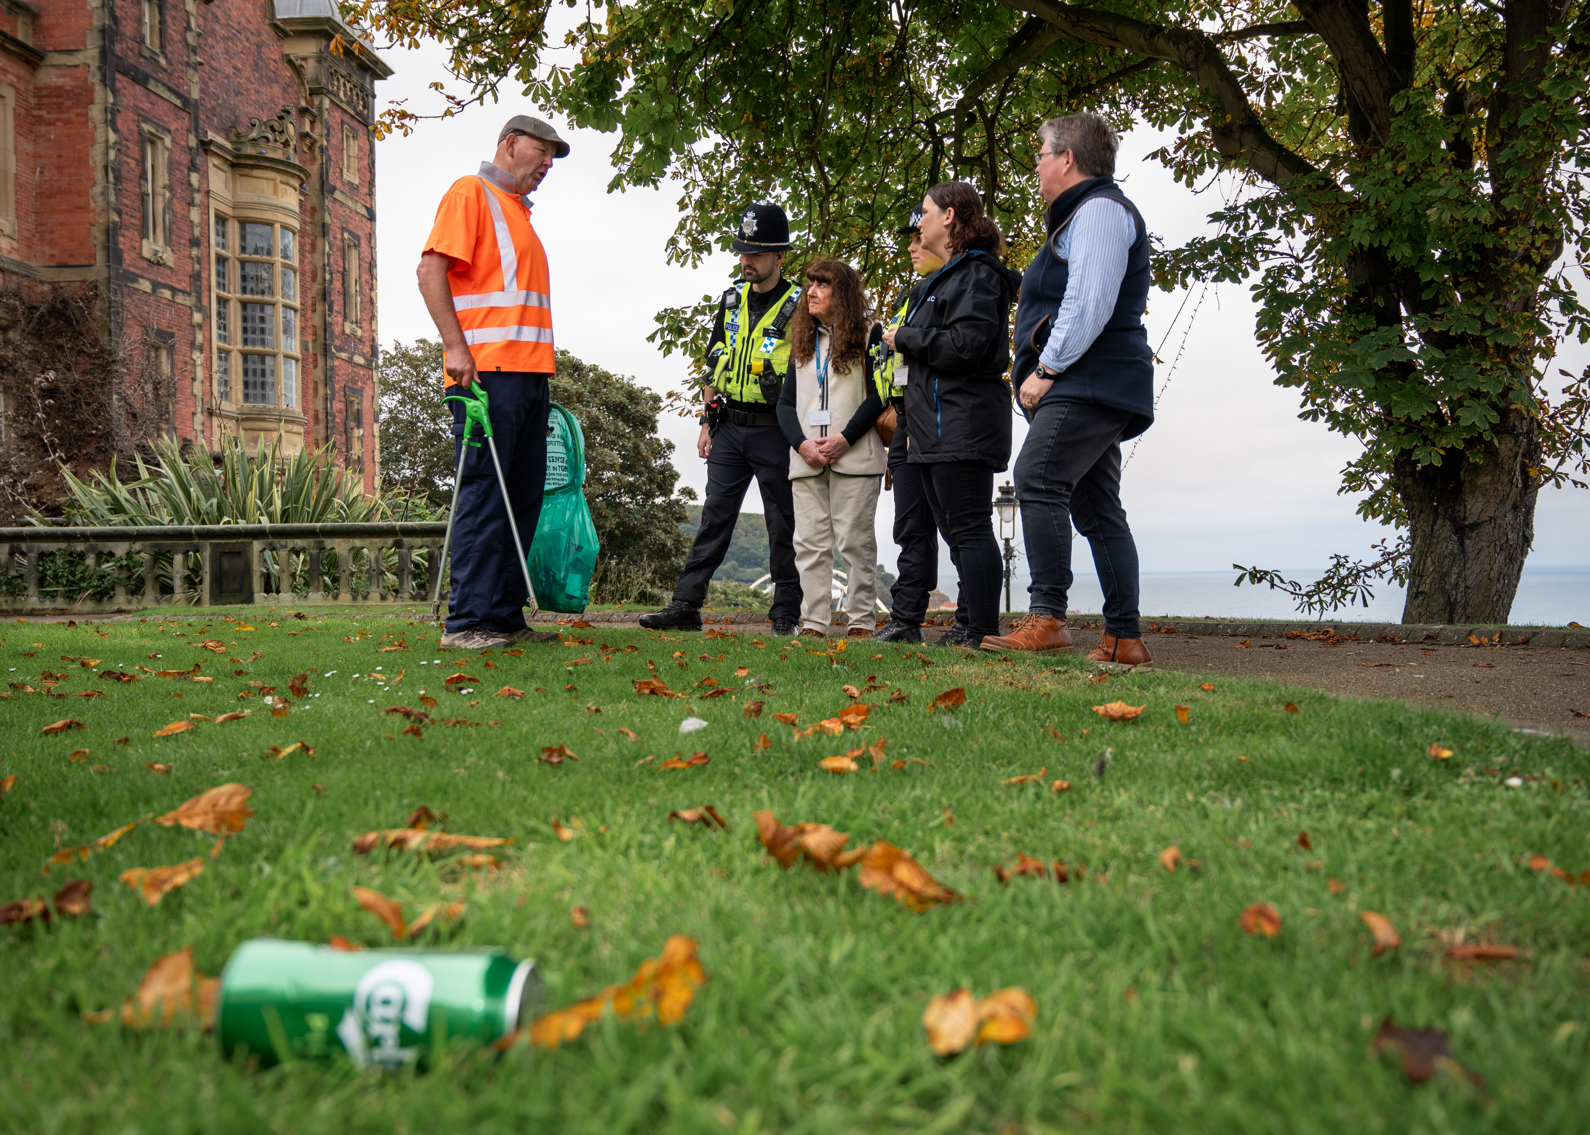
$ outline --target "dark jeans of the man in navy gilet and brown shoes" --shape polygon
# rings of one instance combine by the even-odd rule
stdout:
[[[1094,402],[1040,405],[1016,458],[1016,499],[1032,564],[1029,610],[1065,618],[1072,588],[1072,523],[1088,537],[1103,628],[1118,639],[1142,637],[1137,602],[1137,544],[1121,507],[1121,432],[1129,410]]]

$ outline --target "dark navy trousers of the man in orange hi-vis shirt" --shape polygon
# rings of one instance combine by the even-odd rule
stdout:
[[[491,402],[491,432],[502,477],[514,502],[514,521],[523,540],[525,555],[536,537],[541,520],[541,498],[547,488],[547,410],[552,394],[544,374],[490,370],[480,374],[480,385]],[[458,388],[448,388],[460,394]],[[453,437],[463,439],[464,407],[447,404],[453,412]],[[507,525],[507,509],[491,464],[491,450],[474,431],[479,447],[467,447],[464,474],[458,483],[458,515],[453,520],[453,588],[447,601],[447,629],[463,631],[482,626],[488,631],[525,629],[525,571],[514,550],[514,533]],[[453,442],[453,467],[458,447]]]

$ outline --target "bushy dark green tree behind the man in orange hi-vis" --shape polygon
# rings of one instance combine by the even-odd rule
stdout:
[[[393,343],[380,366],[382,483],[447,509],[458,458],[442,404],[442,345]],[[650,601],[684,566],[690,537],[679,521],[695,499],[695,490],[676,491],[674,444],[657,436],[661,397],[560,350],[552,399],[585,431],[585,501],[601,539],[591,598]]]

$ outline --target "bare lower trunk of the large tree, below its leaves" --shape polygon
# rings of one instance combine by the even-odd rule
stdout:
[[[1507,412],[1496,440],[1479,451],[1480,461],[1448,451],[1439,466],[1396,464],[1414,542],[1404,623],[1507,622],[1534,542],[1534,418]]]

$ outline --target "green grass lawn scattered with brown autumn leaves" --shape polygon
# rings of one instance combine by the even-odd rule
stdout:
[[[94,884],[91,916],[0,927],[0,1129],[1590,1125],[1590,893],[1526,865],[1539,854],[1571,873],[1590,870],[1590,755],[1566,741],[1227,677],[1208,691],[1204,679],[1173,672],[1091,682],[1076,657],[1006,663],[927,649],[927,666],[881,644],[851,642],[830,658],[787,641],[595,626],[566,631],[584,637],[577,644],[463,658],[436,652],[436,631],[402,618],[254,618],[253,629],[186,618],[0,628],[8,682],[38,690],[43,671],[67,676],[56,696],[11,688],[0,701],[0,777],[17,777],[0,801],[0,903],[48,898],[67,879]],[[204,639],[226,653],[200,649]],[[412,649],[378,652],[398,639]],[[119,684],[83,668],[84,658],[99,671],[200,663],[215,680],[145,674]],[[770,688],[638,696],[631,680],[649,677],[647,660],[676,690],[708,677],[739,690],[741,666]],[[474,693],[445,691],[442,679],[458,669],[480,679],[460,687]],[[301,672],[310,690],[281,719],[248,685],[286,693]],[[385,688],[374,672],[402,679]],[[792,741],[773,720],[833,717],[849,703],[841,685],[870,676],[884,688],[865,695],[871,715],[860,731]],[[504,685],[523,690],[523,701],[490,696]],[[927,712],[949,687],[964,687],[967,703]],[[83,690],[103,696],[70,696]],[[405,736],[405,722],[382,711],[420,707],[421,690],[437,698],[437,720],[479,725]],[[256,696],[240,701],[245,691]],[[892,703],[894,691],[909,699]],[[766,703],[757,720],[743,714],[750,698]],[[1091,709],[1116,699],[1146,709],[1126,723]],[[1188,723],[1177,704],[1191,706]],[[153,736],[189,714],[237,709],[251,714]],[[692,712],[709,726],[681,736]],[[84,728],[40,733],[68,717]],[[762,733],[771,749],[755,749]],[[871,773],[865,757],[854,774],[817,768],[879,738],[903,769]],[[267,758],[270,746],[294,741],[313,746],[313,757]],[[1426,755],[1431,742],[1452,758]],[[558,744],[579,760],[537,761]],[[72,760],[78,749],[87,755]],[[711,763],[660,768],[695,750]],[[1005,784],[1040,769],[1035,784]],[[1512,776],[1523,782],[1506,785]],[[1051,792],[1056,779],[1072,788]],[[86,862],[41,873],[60,846],[224,782],[253,787],[256,815],[215,858],[210,836],[142,825]],[[447,812],[448,831],[510,836],[501,870],[353,854],[355,836],[401,827],[421,804]],[[728,831],[666,819],[700,804],[716,806]],[[832,823],[852,844],[898,844],[967,901],[914,914],[863,889],[854,870],[785,873],[757,844],[757,809],[785,823]],[[574,838],[558,839],[553,819]],[[1172,844],[1200,870],[1167,871],[1159,855]],[[1000,884],[994,868],[1018,854],[1086,873],[1065,885]],[[118,881],[129,868],[196,855],[204,873],[157,906]],[[208,974],[261,935],[390,944],[355,900],[356,884],[401,900],[410,916],[444,898],[467,903],[461,920],[421,941],[534,957],[549,1006],[625,981],[673,933],[700,943],[709,982],[674,1027],[607,1017],[553,1052],[522,1048],[501,1059],[453,1046],[418,1075],[359,1073],[340,1060],[261,1071],[224,1062],[215,1035],[197,1028],[140,1033],[81,1019],[119,1006],[156,957],[189,944]],[[1239,928],[1256,901],[1280,911],[1275,938]],[[572,924],[574,906],[588,909],[587,928]],[[1371,955],[1364,909],[1396,924],[1399,949]],[[1523,954],[1501,965],[1444,957],[1464,941]],[[1038,1005],[1032,1036],[937,1059],[922,1008],[957,986],[979,997],[1024,987]],[[1483,1084],[1455,1075],[1409,1083],[1394,1059],[1369,1051],[1388,1016],[1444,1030],[1452,1056]]]

